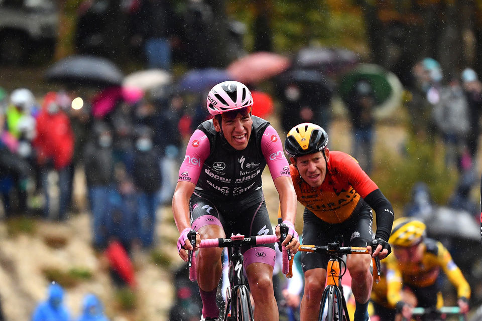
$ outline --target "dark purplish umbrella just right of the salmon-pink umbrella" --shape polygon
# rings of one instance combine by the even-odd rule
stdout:
[[[343,48],[306,47],[298,51],[293,61],[296,68],[317,69],[326,75],[336,75],[353,68],[358,56]]]

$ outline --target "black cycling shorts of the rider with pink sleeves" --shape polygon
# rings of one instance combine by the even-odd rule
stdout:
[[[255,203],[250,201],[246,204],[243,201],[217,200],[214,204],[212,200],[194,192],[189,204],[191,226],[196,229],[204,225],[216,224],[216,221],[218,221],[224,229],[226,237],[238,233],[245,236],[274,234],[264,196],[263,194],[260,195],[258,202]],[[213,217],[217,220],[213,220]],[[275,249],[274,244],[256,246]],[[242,253],[247,249],[243,248]]]

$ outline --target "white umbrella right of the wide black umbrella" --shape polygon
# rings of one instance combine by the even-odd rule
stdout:
[[[171,83],[171,74],[162,69],[147,69],[133,72],[124,78],[123,87],[149,91]]]

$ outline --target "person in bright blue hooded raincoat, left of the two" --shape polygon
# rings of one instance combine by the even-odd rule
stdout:
[[[52,282],[47,291],[48,298],[40,302],[32,315],[32,321],[69,321],[70,312],[63,303],[64,289]]]

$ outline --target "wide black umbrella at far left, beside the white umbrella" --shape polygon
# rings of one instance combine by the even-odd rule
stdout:
[[[45,73],[50,82],[88,87],[121,85],[123,78],[121,70],[110,60],[90,55],[67,57]]]

